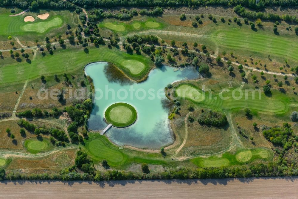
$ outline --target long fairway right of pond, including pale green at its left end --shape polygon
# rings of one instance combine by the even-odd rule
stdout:
[[[182,87],[181,87],[182,86]],[[280,94],[279,92],[272,91],[272,97],[267,97],[263,91],[261,91],[260,99],[259,93],[253,91],[246,91],[245,89],[229,88],[228,91],[222,93],[210,94],[207,90],[203,92],[201,89],[188,83],[181,83],[175,87],[179,92],[175,91],[174,96],[181,99],[191,100],[195,103],[204,104],[216,108],[223,108],[226,110],[251,108],[255,111],[266,114],[281,114],[288,110],[288,103],[297,104],[293,98]],[[182,89],[186,90],[183,91]],[[194,99],[193,96],[189,96],[190,89],[195,88],[192,92],[195,96],[199,93],[204,97]],[[234,97],[233,97],[233,91]],[[240,92],[242,92],[242,97]],[[187,95],[188,94],[188,95]],[[247,96],[247,97],[246,97]]]

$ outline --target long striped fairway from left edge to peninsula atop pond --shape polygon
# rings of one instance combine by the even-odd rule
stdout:
[[[142,79],[154,63],[149,59],[137,54],[128,54],[119,51],[117,48],[111,50],[105,46],[98,48],[89,47],[89,53],[86,54],[82,49],[66,48],[65,50],[55,50],[53,55],[47,54],[46,56],[37,55],[35,60],[29,64],[22,60],[16,62],[9,58],[4,58],[0,66],[1,85],[13,85],[17,83],[24,83],[27,79],[33,80],[40,78],[41,75],[53,76],[54,74],[64,74],[82,69],[85,65],[91,62],[111,62],[120,68],[131,79]],[[144,70],[135,75],[130,72],[128,68],[123,65],[125,60],[136,60],[145,65]],[[55,63],[55,64],[53,64]]]

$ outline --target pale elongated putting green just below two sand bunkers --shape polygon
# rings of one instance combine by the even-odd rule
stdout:
[[[32,22],[31,24],[25,24],[23,29],[28,32],[38,32],[44,33],[46,30],[52,27],[57,27],[62,25],[62,19],[60,17],[55,17],[51,20],[46,20],[43,22]]]

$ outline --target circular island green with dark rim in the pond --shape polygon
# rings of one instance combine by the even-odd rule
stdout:
[[[105,120],[115,127],[127,127],[136,121],[136,109],[123,102],[112,104],[105,111]]]

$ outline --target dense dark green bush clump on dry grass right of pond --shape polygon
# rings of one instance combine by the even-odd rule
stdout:
[[[201,114],[198,118],[198,123],[212,125],[212,126],[224,126],[227,122],[226,115],[220,111],[208,111]]]

